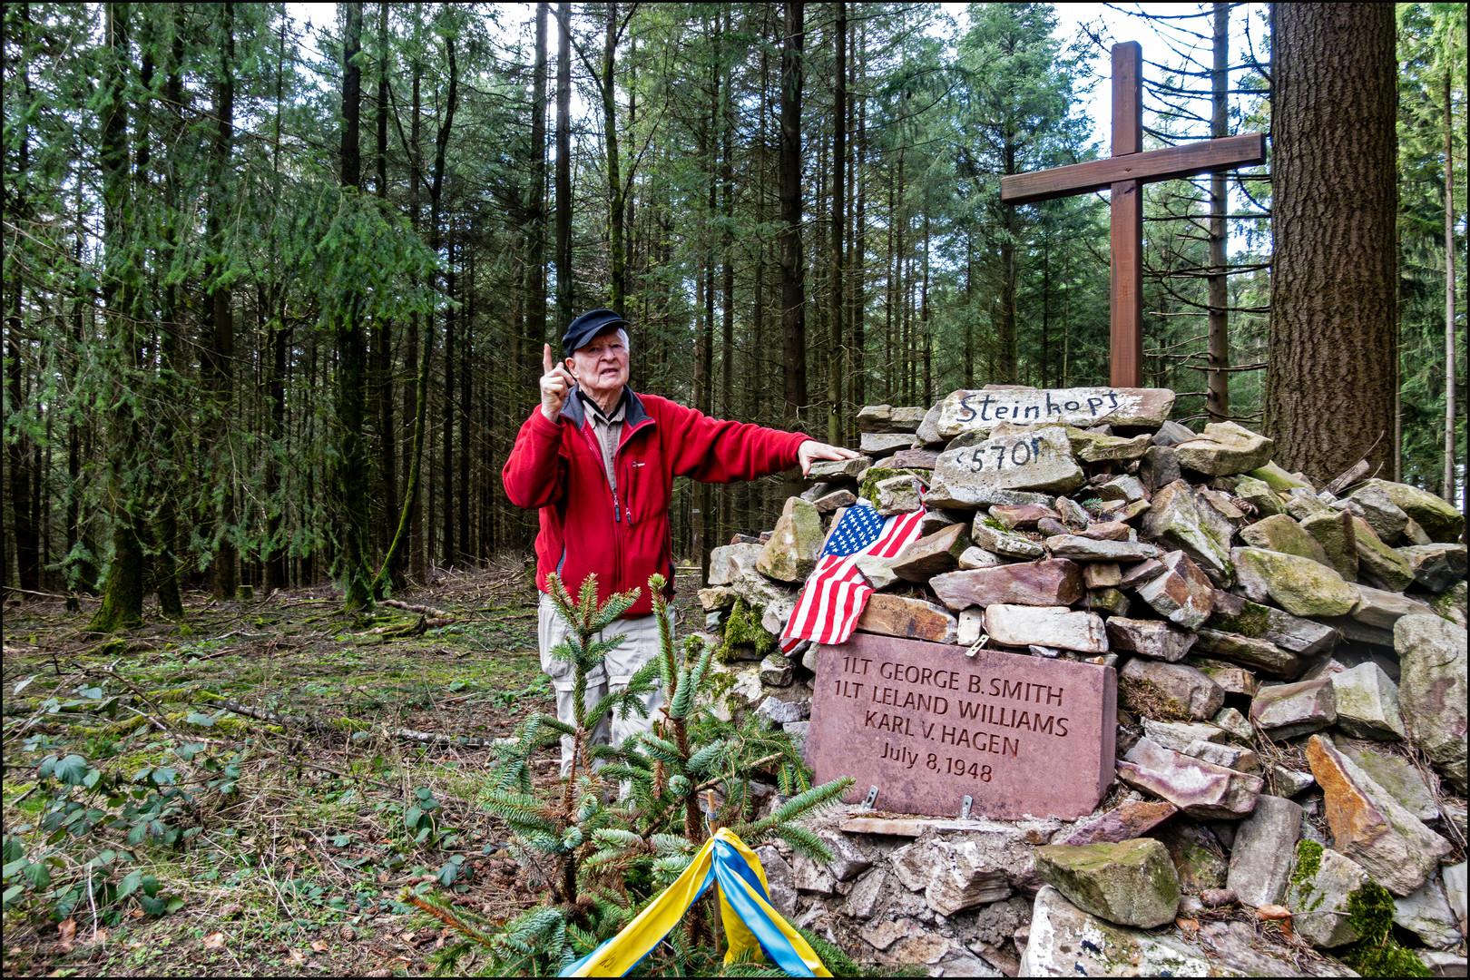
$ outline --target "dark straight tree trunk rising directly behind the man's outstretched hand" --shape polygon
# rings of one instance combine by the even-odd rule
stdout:
[[[786,429],[800,425],[807,404],[807,295],[801,254],[801,47],[806,41],[801,0],[785,4],[781,44],[781,347],[784,354]]]

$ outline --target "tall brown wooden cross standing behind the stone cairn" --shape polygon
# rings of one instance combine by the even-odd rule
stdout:
[[[1113,46],[1113,156],[1035,173],[1001,178],[1001,200],[1032,204],[1057,197],[1111,190],[1114,388],[1138,388],[1144,367],[1144,200],[1142,185],[1211,170],[1266,162],[1266,135],[1251,132],[1225,140],[1185,143],[1164,150],[1144,148],[1144,50],[1138,41]]]

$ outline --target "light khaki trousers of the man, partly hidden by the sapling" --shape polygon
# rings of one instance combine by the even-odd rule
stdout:
[[[576,724],[578,711],[573,704],[576,698],[573,691],[576,686],[576,670],[572,667],[570,660],[551,655],[551,648],[566,638],[566,623],[556,614],[551,597],[544,592],[541,594],[541,604],[537,607],[537,614],[541,670],[551,679],[551,686],[556,689],[556,717],[566,724]],[[673,630],[672,621],[669,623],[669,629],[670,632]],[[609,693],[626,688],[632,676],[659,654],[659,620],[656,616],[634,616],[614,620],[612,626],[597,633],[594,639],[606,639],[619,633],[623,635],[623,642],[609,652],[603,658],[601,667],[592,669],[587,677],[587,708],[597,705]],[[637,714],[629,714],[626,718],[619,718],[616,713],[612,717],[604,714],[597,727],[592,729],[588,745],[612,742],[613,748],[620,748],[632,735],[653,730],[659,708],[663,707],[663,691],[659,685],[660,682],[654,680],[654,689],[641,698],[644,707],[648,708],[647,718],[641,718]],[[572,771],[572,742],[570,735],[562,736],[563,777]]]

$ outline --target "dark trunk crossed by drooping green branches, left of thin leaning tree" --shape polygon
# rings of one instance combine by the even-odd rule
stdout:
[[[343,190],[351,195],[362,187],[360,113],[362,113],[362,51],[363,4],[347,4],[347,32],[343,38]],[[356,206],[356,201],[351,204]],[[368,579],[368,442],[363,438],[366,408],[365,370],[366,342],[362,325],[362,300],[344,297],[335,310],[337,328],[337,436],[338,492],[341,517],[338,533],[338,574],[343,583],[343,605],[348,611],[372,605]]]

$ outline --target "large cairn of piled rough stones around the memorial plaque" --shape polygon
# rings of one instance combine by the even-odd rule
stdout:
[[[1430,973],[1466,976],[1461,514],[1366,463],[1288,473],[1239,425],[1167,420],[1160,389],[1111,426],[973,425],[1076,391],[867,406],[861,458],[816,464],[773,530],[713,550],[713,707],[798,743],[813,676],[775,639],[860,497],[898,514],[923,491],[928,511],[898,557],[858,561],[860,630],[1119,674],[1117,782],[1091,815],[842,807],[807,823],[832,862],[761,848],[776,904],[931,976],[1352,976],[1330,951],[1374,882]]]

